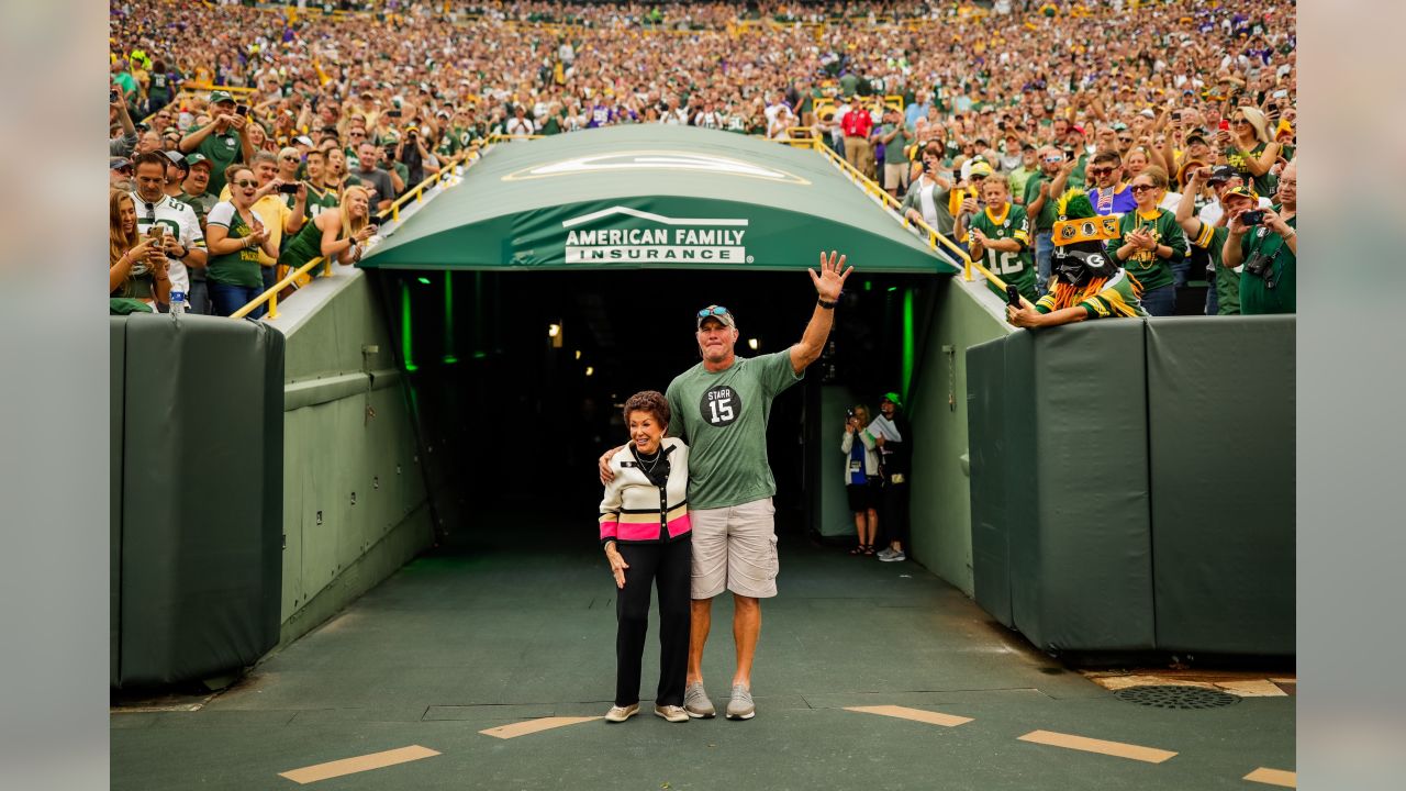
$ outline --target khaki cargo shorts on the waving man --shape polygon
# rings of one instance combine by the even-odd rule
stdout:
[[[692,597],[713,598],[724,590],[752,598],[776,595],[775,515],[770,497],[730,508],[690,508]]]

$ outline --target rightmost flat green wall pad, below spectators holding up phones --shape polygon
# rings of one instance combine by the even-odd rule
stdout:
[[[1147,322],[1160,649],[1294,653],[1294,331]]]

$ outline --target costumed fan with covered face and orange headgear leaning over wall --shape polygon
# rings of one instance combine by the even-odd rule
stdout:
[[[1015,327],[1057,327],[1085,318],[1147,315],[1142,284],[1107,255],[1104,243],[1118,238],[1118,218],[1098,217],[1083,190],[1059,200],[1054,222],[1050,290],[1033,308],[1007,307]]]

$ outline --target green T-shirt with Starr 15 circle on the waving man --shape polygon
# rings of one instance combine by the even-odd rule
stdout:
[[[668,398],[669,436],[689,445],[689,507],[727,508],[776,494],[766,459],[772,400],[803,379],[790,349],[737,357],[710,373],[697,363],[673,377]]]

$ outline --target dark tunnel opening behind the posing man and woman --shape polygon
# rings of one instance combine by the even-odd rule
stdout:
[[[495,529],[534,518],[593,529],[596,459],[627,439],[620,408],[699,362],[697,311],[730,308],[738,355],[755,356],[789,349],[814,307],[808,277],[796,270],[375,274],[449,543],[471,539],[463,532],[484,518]],[[844,414],[820,414],[823,391],[848,387],[876,408],[882,393],[903,390],[921,359],[914,338],[924,335],[934,283],[931,274],[851,277],[825,355],[772,408],[779,533],[814,525],[820,476],[841,476]]]

